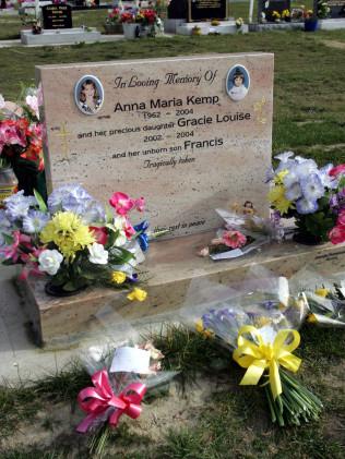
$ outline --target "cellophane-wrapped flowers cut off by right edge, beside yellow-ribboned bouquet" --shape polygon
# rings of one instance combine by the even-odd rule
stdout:
[[[307,266],[290,279],[292,289],[308,301],[307,322],[345,327],[345,273],[322,273]]]

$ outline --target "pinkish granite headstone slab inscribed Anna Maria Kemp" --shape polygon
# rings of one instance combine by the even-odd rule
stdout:
[[[37,80],[48,191],[144,196],[170,235],[216,228],[235,202],[267,214],[273,55],[45,65]]]

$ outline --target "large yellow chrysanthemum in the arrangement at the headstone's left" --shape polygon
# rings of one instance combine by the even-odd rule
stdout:
[[[88,227],[72,212],[58,212],[41,231],[40,240],[53,242],[67,259],[95,242]]]

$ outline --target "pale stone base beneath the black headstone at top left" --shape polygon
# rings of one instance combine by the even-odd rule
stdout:
[[[23,45],[60,45],[94,43],[100,39],[102,35],[96,28],[61,28],[57,31],[43,31],[35,35],[32,31],[22,31],[21,39]]]

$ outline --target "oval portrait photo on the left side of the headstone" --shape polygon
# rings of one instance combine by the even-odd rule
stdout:
[[[74,87],[74,100],[84,114],[96,114],[104,100],[100,81],[96,76],[84,75]]]

